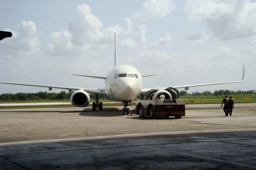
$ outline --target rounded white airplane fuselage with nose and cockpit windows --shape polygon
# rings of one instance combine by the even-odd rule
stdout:
[[[133,101],[142,90],[140,72],[131,65],[114,67],[105,80],[106,98],[115,101]]]

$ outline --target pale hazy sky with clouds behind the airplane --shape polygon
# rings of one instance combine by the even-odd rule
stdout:
[[[256,89],[254,0],[0,0],[0,81],[104,88],[114,67],[136,67],[143,88],[241,79],[192,91]],[[182,89],[179,89],[182,90]],[[0,93],[47,88],[0,85]],[[54,90],[58,92],[60,90]]]

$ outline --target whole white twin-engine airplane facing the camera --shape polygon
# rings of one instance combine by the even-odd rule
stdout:
[[[105,97],[106,99],[120,101],[124,103],[124,108],[122,109],[123,114],[128,110],[127,106],[134,99],[141,95],[141,99],[156,99],[160,94],[165,95],[165,99],[178,99],[179,91],[177,89],[184,88],[188,90],[189,87],[198,87],[205,85],[217,85],[226,83],[238,83],[244,81],[244,67],[242,71],[242,79],[240,81],[229,81],[220,83],[206,83],[197,85],[181,85],[173,87],[152,87],[147,89],[142,89],[142,77],[153,76],[153,75],[141,75],[140,72],[131,65],[118,65],[117,55],[116,55],[116,34],[115,36],[115,54],[114,54],[114,68],[110,70],[106,77],[90,76],[90,75],[78,75],[84,77],[92,77],[97,79],[105,80],[104,89],[89,89],[83,87],[63,87],[63,86],[53,86],[53,85],[34,85],[34,84],[23,84],[23,83],[7,83],[0,82],[2,84],[11,85],[25,85],[25,86],[35,86],[35,87],[48,87],[51,91],[52,88],[55,89],[66,89],[74,91],[71,95],[71,104],[76,107],[86,107],[90,102],[90,93],[94,93],[96,96],[96,103],[92,103],[92,110],[95,111],[96,107],[102,110],[102,102],[99,103],[99,96]],[[77,74],[74,74],[77,75]]]

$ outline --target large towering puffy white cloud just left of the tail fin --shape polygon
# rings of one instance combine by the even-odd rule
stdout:
[[[129,22],[129,19],[126,22]],[[76,19],[69,24],[68,30],[51,34],[48,51],[52,54],[64,54],[74,49],[76,51],[84,51],[88,48],[101,49],[113,41],[114,32],[120,34],[122,27],[114,25],[103,28],[103,23],[100,18],[92,14],[90,6],[78,5]]]

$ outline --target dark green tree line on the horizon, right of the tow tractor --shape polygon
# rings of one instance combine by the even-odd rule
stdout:
[[[218,95],[248,95],[248,94],[256,94],[256,90],[248,90],[248,91],[230,91],[230,90],[215,90],[213,93],[210,91],[204,91],[199,93],[198,91],[188,93],[185,90],[180,91],[180,96],[218,96]]]

